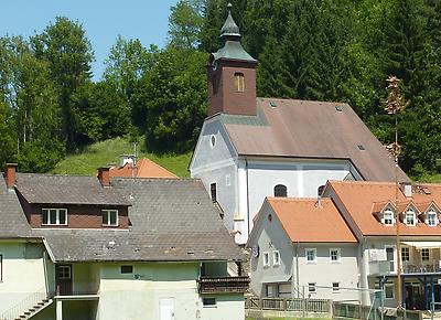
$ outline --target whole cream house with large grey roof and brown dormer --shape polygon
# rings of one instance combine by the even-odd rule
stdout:
[[[0,181],[0,319],[245,319],[241,252],[200,181]]]

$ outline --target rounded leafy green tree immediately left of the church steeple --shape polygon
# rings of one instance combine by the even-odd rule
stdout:
[[[137,93],[147,148],[182,152],[194,146],[206,115],[207,55],[169,47],[158,54]]]

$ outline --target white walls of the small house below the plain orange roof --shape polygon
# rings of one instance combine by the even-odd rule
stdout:
[[[271,214],[272,220],[268,218]],[[313,223],[313,222],[311,222]],[[259,296],[267,295],[266,286],[271,287],[272,296],[281,296],[279,286],[284,288],[284,295],[301,297],[303,288],[308,297],[308,284],[313,282],[318,287],[311,298],[325,298],[333,300],[359,300],[361,295],[356,289],[358,286],[357,244],[292,244],[282,228],[277,215],[269,206],[263,206],[256,225],[258,230],[252,231],[249,246],[259,246],[259,256],[251,257],[251,289]],[[316,262],[306,263],[305,248],[316,250]],[[338,248],[341,259],[338,263],[331,262],[330,249]],[[273,252],[280,253],[280,265],[273,264]],[[263,267],[263,253],[269,253],[269,266]],[[291,279],[293,282],[291,282]],[[342,288],[334,292],[332,282],[338,282]]]

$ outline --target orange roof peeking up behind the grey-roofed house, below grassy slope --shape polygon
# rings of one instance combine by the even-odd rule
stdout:
[[[173,174],[165,168],[162,168],[158,163],[153,162],[148,158],[142,158],[137,161],[137,164],[126,163],[123,167],[112,167],[109,170],[110,177],[121,178],[171,178],[178,179],[178,175]]]

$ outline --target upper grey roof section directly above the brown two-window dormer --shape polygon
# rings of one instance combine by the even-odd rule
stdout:
[[[15,186],[29,203],[129,205],[95,177],[17,173]]]

